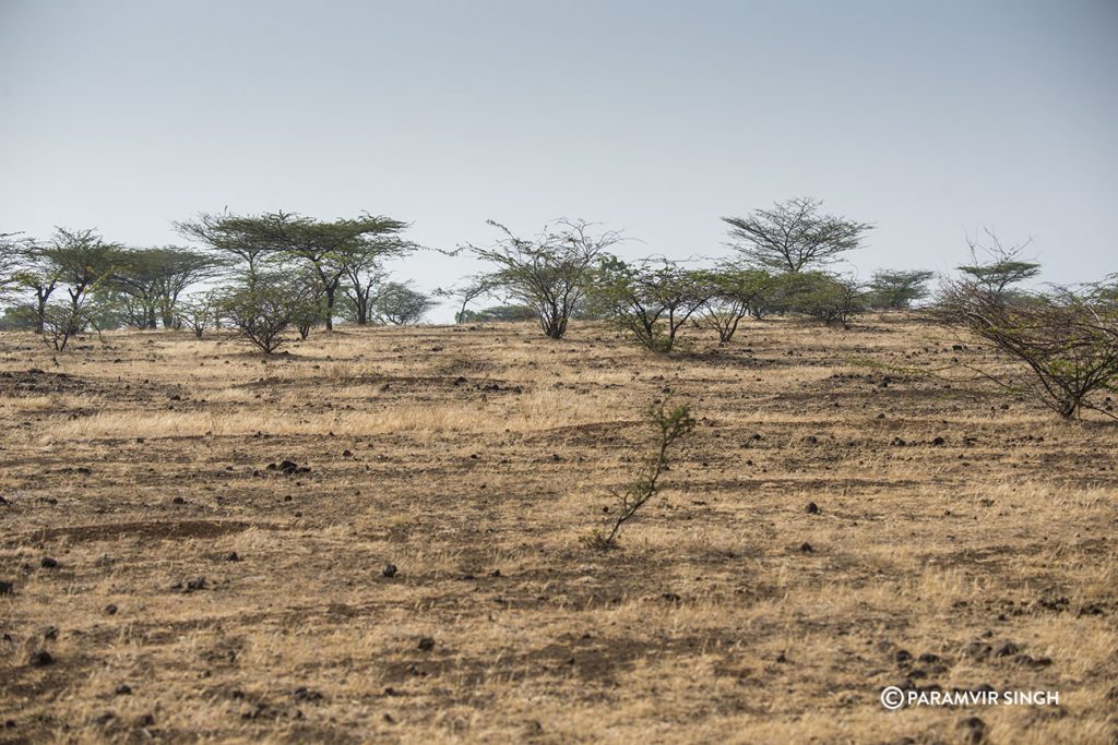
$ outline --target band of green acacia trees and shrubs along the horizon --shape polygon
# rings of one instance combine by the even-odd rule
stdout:
[[[40,334],[58,351],[86,331],[187,329],[198,337],[230,328],[271,354],[297,334],[335,322],[409,325],[434,307],[456,305],[458,323],[531,321],[562,338],[571,319],[615,324],[641,346],[676,348],[684,327],[705,327],[721,343],[740,324],[798,316],[843,327],[871,309],[927,302],[932,317],[964,327],[1022,361],[1033,391],[1062,416],[1090,408],[1118,375],[1118,283],[1018,289],[1040,265],[1027,243],[1003,246],[987,232],[969,240],[970,261],[945,277],[936,297],[927,270],[875,271],[869,281],[834,270],[861,247],[868,222],[795,198],[746,217],[722,218],[733,254],[713,266],[613,251],[622,233],[581,220],[557,220],[523,237],[499,222],[489,245],[465,252],[486,270],[433,295],[386,269],[419,246],[408,223],[362,213],[322,221],[290,212],[201,213],[174,223],[192,246],[130,247],[94,230],[59,228],[46,240],[0,233],[0,328]],[[482,298],[498,304],[472,311]],[[1004,382],[1004,381],[1003,381]]]

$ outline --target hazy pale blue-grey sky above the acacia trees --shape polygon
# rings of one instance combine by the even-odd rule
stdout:
[[[1076,281],[1118,271],[1115,132],[1116,0],[0,0],[0,231],[39,237],[368,210],[439,248],[570,217],[682,258],[809,194],[878,225],[862,277],[988,226]]]

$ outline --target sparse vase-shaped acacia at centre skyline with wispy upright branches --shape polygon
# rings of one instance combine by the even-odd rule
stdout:
[[[596,261],[622,240],[620,233],[595,233],[589,222],[562,219],[544,226],[533,238],[518,238],[499,222],[490,220],[489,225],[502,238],[490,247],[465,247],[496,266],[481,275],[480,284],[513,304],[531,307],[543,333],[562,338],[590,285]]]

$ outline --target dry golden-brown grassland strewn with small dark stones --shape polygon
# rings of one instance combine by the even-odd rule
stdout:
[[[1118,429],[918,374],[998,361],[915,323],[694,341],[0,336],[0,742],[1114,742]],[[700,427],[586,548],[667,393]]]

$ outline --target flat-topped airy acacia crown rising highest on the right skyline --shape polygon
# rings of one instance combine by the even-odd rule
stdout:
[[[822,200],[796,197],[745,218],[722,218],[730,226],[731,246],[761,267],[798,273],[823,266],[860,248],[873,226],[821,214]]]

